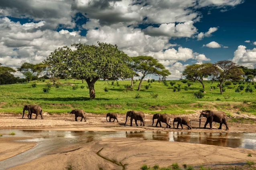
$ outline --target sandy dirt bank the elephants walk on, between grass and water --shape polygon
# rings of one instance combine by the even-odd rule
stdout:
[[[174,117],[182,115],[171,115],[171,122]],[[63,114],[63,115],[45,115],[44,119],[21,119],[22,115],[13,114],[0,114],[0,128],[21,128],[21,129],[51,129],[51,130],[85,130],[85,131],[125,131],[125,130],[142,130],[142,131],[187,131],[187,127],[183,126],[181,129],[173,129],[173,122],[171,123],[172,128],[165,128],[165,123],[162,123],[162,128],[151,127],[152,125],[152,115],[146,114],[146,126],[136,127],[133,122],[133,127],[124,126],[125,115],[118,115],[119,123],[117,122],[107,122],[106,115],[99,114],[87,114],[87,122],[75,122],[74,115]],[[33,114],[33,118],[35,115]],[[199,129],[199,120],[197,115],[190,115],[191,118],[191,132],[219,132],[226,129],[225,125],[222,125],[222,130],[218,130],[219,124],[213,123],[213,130],[209,129]],[[232,119],[228,119],[232,121]],[[206,119],[202,119],[202,125],[204,125]],[[234,120],[233,120],[234,121]],[[156,123],[156,121],[155,121]],[[130,125],[130,119],[128,118],[127,125]],[[155,125],[155,124],[154,124]],[[241,119],[240,121],[235,120],[234,122],[228,123],[230,131],[229,132],[256,132],[256,123],[253,120]],[[159,126],[159,125],[158,125]],[[177,123],[175,124],[177,126]],[[179,127],[181,128],[181,127]],[[207,126],[209,128],[209,124]]]

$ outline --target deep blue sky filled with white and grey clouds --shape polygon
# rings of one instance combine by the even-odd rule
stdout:
[[[100,41],[157,58],[168,79],[191,63],[253,68],[255,8],[255,0],[1,0],[0,63],[15,69],[64,45]]]

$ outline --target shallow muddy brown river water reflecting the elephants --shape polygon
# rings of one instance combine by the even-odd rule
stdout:
[[[15,135],[9,135],[15,132]],[[7,169],[25,162],[40,158],[47,154],[63,153],[79,149],[83,144],[104,138],[143,138],[145,140],[161,140],[169,142],[187,142],[209,144],[232,148],[256,149],[256,133],[226,132],[88,132],[88,131],[57,131],[57,130],[0,130],[2,137],[31,136],[32,139],[20,142],[38,142],[38,144],[12,158],[0,161],[0,169]],[[1,138],[2,138],[1,137]],[[69,147],[69,150],[65,148]],[[71,148],[71,149],[70,149]]]

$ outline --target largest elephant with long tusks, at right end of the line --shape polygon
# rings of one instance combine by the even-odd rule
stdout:
[[[210,110],[203,110],[201,111],[201,114],[199,116],[199,128],[201,127],[201,119],[203,117],[206,117],[205,126],[203,128],[206,128],[207,124],[210,124],[210,129],[212,129],[212,122],[219,123],[219,128],[221,129],[222,124],[226,125],[226,130],[229,130],[228,128],[228,117],[225,112],[223,111],[210,111]]]

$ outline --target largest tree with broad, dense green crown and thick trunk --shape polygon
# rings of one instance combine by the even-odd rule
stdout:
[[[80,77],[89,87],[90,99],[95,99],[94,84],[98,79],[119,79],[132,76],[128,67],[130,57],[119,50],[117,45],[100,43],[87,45],[75,43],[69,47],[61,47],[47,57],[44,63],[52,65],[55,74]]]

